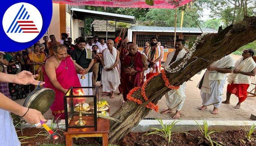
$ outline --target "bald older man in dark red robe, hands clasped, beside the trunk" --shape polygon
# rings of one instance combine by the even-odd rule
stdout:
[[[127,94],[134,87],[141,87],[144,83],[144,71],[148,69],[147,58],[138,51],[138,46],[129,45],[129,54],[124,58],[123,97],[127,101]]]

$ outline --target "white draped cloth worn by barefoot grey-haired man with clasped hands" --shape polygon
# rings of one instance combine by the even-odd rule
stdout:
[[[102,92],[116,91],[120,84],[120,76],[118,72],[118,65],[111,71],[105,69],[112,67],[116,62],[117,50],[113,47],[113,55],[109,52],[108,48],[103,51],[104,67],[101,73]]]

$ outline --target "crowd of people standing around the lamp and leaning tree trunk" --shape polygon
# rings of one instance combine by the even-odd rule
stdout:
[[[128,39],[122,40],[120,47],[115,48],[113,40],[105,40],[94,36],[84,40],[72,38],[61,34],[61,40],[56,41],[54,35],[43,37],[44,43],[39,41],[26,50],[0,53],[0,71],[8,74],[18,74],[22,70],[38,74],[36,80],[44,81],[44,87],[55,90],[56,98],[51,106],[55,117],[64,119],[63,96],[70,87],[95,87],[100,81],[102,96],[115,98],[122,94],[124,102],[127,101],[129,91],[134,87],[141,87],[145,80],[160,73],[161,60],[163,60],[163,46],[156,37],[146,43],[143,50]],[[177,39],[175,50],[168,54],[162,65],[167,67],[173,62],[183,58],[187,51],[184,49],[185,41]],[[255,62],[252,59],[254,51],[244,50],[242,58],[234,61],[228,55],[213,62],[204,73],[197,87],[201,90],[204,110],[213,105],[212,114],[217,114],[221,103],[229,104],[231,94],[239,97],[234,108],[240,108],[247,97],[247,88],[251,83],[250,76],[256,73]],[[227,76],[227,73],[231,73]],[[85,77],[85,79],[82,78]],[[223,87],[228,78],[227,99],[222,102]],[[34,85],[20,85],[16,83],[0,82],[0,92],[12,100],[25,98],[33,91]],[[175,112],[172,117],[180,118],[180,111],[185,102],[186,82],[178,90],[171,90],[165,94],[167,110],[162,114]],[[92,95],[92,88],[84,88],[84,95]],[[175,110],[176,111],[175,111]]]

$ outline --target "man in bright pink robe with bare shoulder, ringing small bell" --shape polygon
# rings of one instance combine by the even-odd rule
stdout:
[[[44,66],[44,87],[55,91],[55,100],[51,106],[55,118],[65,119],[63,96],[70,87],[81,87],[77,73],[85,74],[85,70],[76,69],[76,63],[67,54],[65,45],[53,47],[54,56]]]

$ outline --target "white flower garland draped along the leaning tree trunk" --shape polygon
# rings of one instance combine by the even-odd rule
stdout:
[[[178,71],[181,70],[181,68],[183,68],[185,65],[188,64],[188,60],[191,58],[192,54],[196,51],[196,45],[198,44],[198,42],[204,37],[204,35],[208,35],[210,33],[203,33],[200,36],[197,36],[195,43],[193,44],[193,46],[190,48],[188,54],[186,55],[186,57],[183,59],[183,61],[176,66],[175,68],[170,68],[171,65],[174,63],[171,63],[170,65],[168,65],[167,67],[165,67],[164,69],[168,72],[168,73],[176,73]]]

